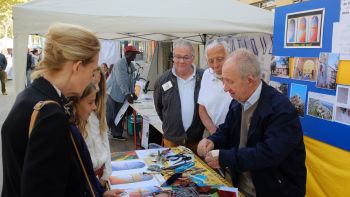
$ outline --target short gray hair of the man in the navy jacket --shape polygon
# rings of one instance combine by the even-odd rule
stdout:
[[[237,49],[230,55],[231,58],[236,62],[241,77],[251,74],[254,78],[260,79],[260,63],[252,52],[247,49]]]

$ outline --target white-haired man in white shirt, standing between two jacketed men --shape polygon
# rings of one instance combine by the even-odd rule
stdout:
[[[199,116],[206,130],[203,137],[213,134],[220,124],[225,122],[231,96],[224,91],[222,83],[222,65],[229,55],[225,40],[215,39],[208,42],[205,55],[209,68],[205,70],[198,96]]]

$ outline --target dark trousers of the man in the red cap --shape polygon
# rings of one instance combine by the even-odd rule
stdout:
[[[123,135],[122,121],[121,119],[118,125],[114,124],[115,117],[117,116],[119,110],[122,108],[123,103],[115,102],[111,96],[107,96],[107,125],[111,129],[112,135],[114,137]]]

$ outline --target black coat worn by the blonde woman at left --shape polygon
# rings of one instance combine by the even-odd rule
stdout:
[[[44,106],[28,139],[33,106],[44,100],[63,105],[54,87],[39,78],[17,96],[2,126],[3,197],[89,194],[62,107]]]

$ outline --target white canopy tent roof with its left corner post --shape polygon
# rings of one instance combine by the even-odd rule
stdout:
[[[272,34],[273,13],[235,0],[33,0],[14,6],[15,91],[24,88],[29,34],[55,22],[82,25],[103,39],[205,42],[207,36]]]

